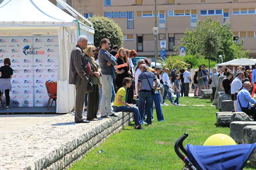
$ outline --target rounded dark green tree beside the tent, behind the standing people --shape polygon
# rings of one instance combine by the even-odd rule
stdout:
[[[110,18],[93,16],[88,18],[94,24],[94,46],[100,46],[100,40],[103,38],[110,39],[111,45],[123,46],[123,33],[120,26]],[[83,21],[84,24],[89,25]]]

